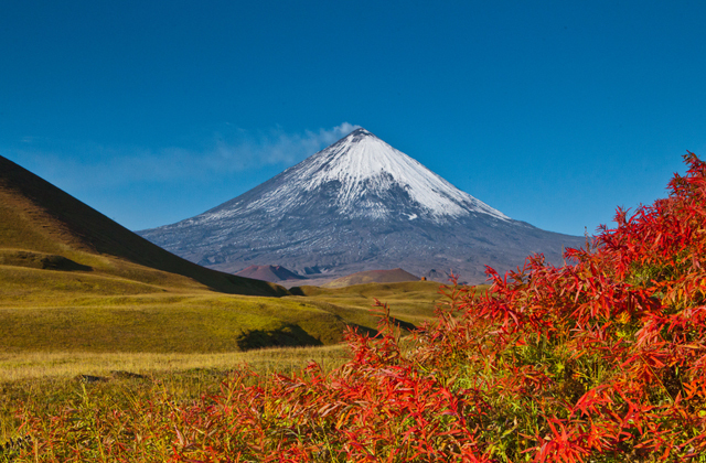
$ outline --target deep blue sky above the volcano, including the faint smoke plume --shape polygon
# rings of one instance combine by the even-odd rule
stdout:
[[[703,1],[0,3],[0,154],[131,229],[365,127],[582,235],[706,158]]]

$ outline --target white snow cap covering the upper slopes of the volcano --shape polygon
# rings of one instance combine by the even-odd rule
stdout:
[[[282,213],[307,201],[307,193],[335,185],[334,205],[341,214],[386,218],[394,205],[381,201],[393,190],[406,192],[420,212],[434,219],[503,213],[464,193],[402,151],[360,128],[280,174],[278,187],[247,205],[248,209]],[[303,193],[303,195],[302,195]],[[415,218],[413,212],[397,211]]]

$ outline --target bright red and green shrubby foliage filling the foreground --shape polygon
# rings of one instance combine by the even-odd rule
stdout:
[[[706,457],[706,163],[567,265],[489,269],[402,336],[346,334],[333,369],[233,372],[216,391],[20,410],[19,461],[633,462]],[[9,455],[9,456],[8,456]]]

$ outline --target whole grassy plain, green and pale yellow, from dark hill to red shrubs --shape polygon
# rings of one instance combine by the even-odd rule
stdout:
[[[434,320],[435,304],[443,299],[439,289],[418,281],[303,287],[301,295],[282,298],[164,288],[131,295],[94,288],[55,291],[54,298],[52,291],[23,301],[2,298],[0,442],[21,434],[14,413],[22,405],[50,413],[86,395],[116,406],[158,394],[188,401],[215,392],[231,372],[246,365],[261,375],[289,374],[309,362],[333,369],[349,359],[341,343],[346,325],[374,332],[376,298],[400,324],[418,326]],[[321,345],[286,346],[312,338]],[[285,346],[256,348],[275,340]]]

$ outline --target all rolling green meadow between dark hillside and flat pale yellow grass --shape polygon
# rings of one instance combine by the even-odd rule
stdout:
[[[49,274],[49,276],[47,276]],[[374,298],[400,322],[434,317],[435,282],[363,284],[260,298],[88,272],[0,266],[0,352],[224,353],[340,343],[374,331]],[[409,325],[407,325],[409,326]]]

